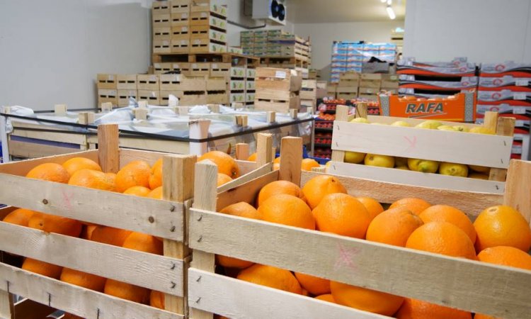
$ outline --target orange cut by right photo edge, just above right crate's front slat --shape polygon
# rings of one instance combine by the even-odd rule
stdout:
[[[496,246],[485,248],[479,252],[477,257],[480,262],[531,270],[531,255],[515,247]]]

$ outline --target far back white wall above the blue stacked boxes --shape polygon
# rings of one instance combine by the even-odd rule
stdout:
[[[410,0],[408,0],[410,1]],[[373,43],[390,42],[391,31],[404,28],[404,21],[297,23],[295,33],[312,40],[312,68],[321,69],[322,79],[328,80],[333,41],[365,40]]]

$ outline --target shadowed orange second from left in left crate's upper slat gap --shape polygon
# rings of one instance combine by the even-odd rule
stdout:
[[[79,237],[83,225],[78,220],[72,218],[45,213],[34,213],[30,220],[28,220],[28,227],[42,230],[46,233]]]

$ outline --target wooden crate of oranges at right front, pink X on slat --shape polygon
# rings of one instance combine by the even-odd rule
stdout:
[[[217,197],[212,179],[217,168],[196,164],[195,201],[188,219],[193,249],[188,269],[190,318],[210,318],[210,313],[231,318],[389,318],[215,274],[214,254],[496,317],[527,318],[531,312],[530,271],[217,213],[239,201],[254,203],[261,187],[271,181],[305,184],[319,174],[300,171],[302,142],[298,138],[282,140],[281,154],[279,171]],[[521,205],[520,211],[529,220],[527,193],[518,188],[531,177],[531,164],[514,161],[510,177],[513,187],[505,198],[503,194],[419,188],[354,177],[338,179],[349,194],[370,196],[382,203],[415,194],[472,215],[505,203]]]

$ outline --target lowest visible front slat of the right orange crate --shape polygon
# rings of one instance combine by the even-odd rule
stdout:
[[[211,313],[234,319],[256,318],[387,318],[384,315],[340,306],[336,303],[289,293],[246,281],[188,270],[190,295],[188,302]]]

